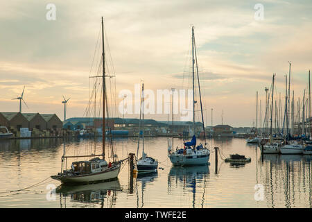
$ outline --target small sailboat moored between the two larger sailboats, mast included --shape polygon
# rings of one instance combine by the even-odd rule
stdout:
[[[137,160],[137,171],[138,173],[157,171],[158,161],[155,160],[153,157],[148,157],[146,153],[144,152],[144,83],[142,83],[142,98],[141,98],[140,122],[139,122],[139,139],[137,142],[137,156],[139,153],[139,142],[140,142],[140,134],[141,134],[141,129],[140,129],[141,128],[141,116],[142,116],[142,123],[143,123],[142,157],[139,160]]]

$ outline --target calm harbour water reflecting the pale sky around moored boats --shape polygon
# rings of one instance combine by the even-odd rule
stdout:
[[[173,146],[182,145],[174,139]],[[312,207],[312,157],[265,155],[245,139],[209,139],[228,156],[239,153],[252,161],[242,166],[218,161],[211,153],[208,166],[172,167],[167,158],[167,138],[146,138],[144,148],[159,162],[157,173],[130,180],[128,162],[118,180],[94,185],[62,187],[47,179],[60,171],[65,147],[67,155],[101,153],[101,138],[20,139],[0,141],[0,207]],[[119,159],[137,153],[137,139],[114,139]],[[141,151],[139,152],[139,157]],[[70,167],[69,159],[67,168]],[[255,200],[255,185],[263,186],[263,200]],[[49,186],[57,187],[55,200],[47,200]],[[257,197],[257,196],[256,196]],[[259,196],[258,196],[259,197]]]

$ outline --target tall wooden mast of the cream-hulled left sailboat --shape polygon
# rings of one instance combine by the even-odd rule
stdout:
[[[102,17],[102,62],[103,62],[103,128],[102,128],[102,136],[103,136],[103,160],[105,160],[105,51],[104,51],[104,25],[103,25],[103,17]]]

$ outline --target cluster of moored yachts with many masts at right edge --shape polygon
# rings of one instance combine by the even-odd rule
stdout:
[[[297,101],[295,109],[295,92],[291,95],[291,62],[289,62],[289,75],[285,75],[285,100],[284,108],[281,106],[281,93],[279,93],[279,105],[275,99],[275,76],[272,76],[272,84],[266,87],[266,108],[263,125],[258,128],[258,92],[257,114],[254,137],[247,139],[248,143],[262,144],[263,153],[281,154],[312,154],[311,153],[311,83],[309,71],[308,95],[306,89],[300,103]],[[269,92],[269,93],[268,93]],[[261,101],[260,101],[261,110]],[[260,111],[260,122],[261,111]]]

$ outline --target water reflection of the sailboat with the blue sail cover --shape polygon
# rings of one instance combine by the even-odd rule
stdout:
[[[205,190],[209,179],[209,164],[193,167],[171,167],[168,174],[168,193],[183,188],[185,196],[192,194],[192,207],[196,205],[196,194],[200,196],[200,207],[205,205]],[[189,200],[187,200],[189,201]]]

